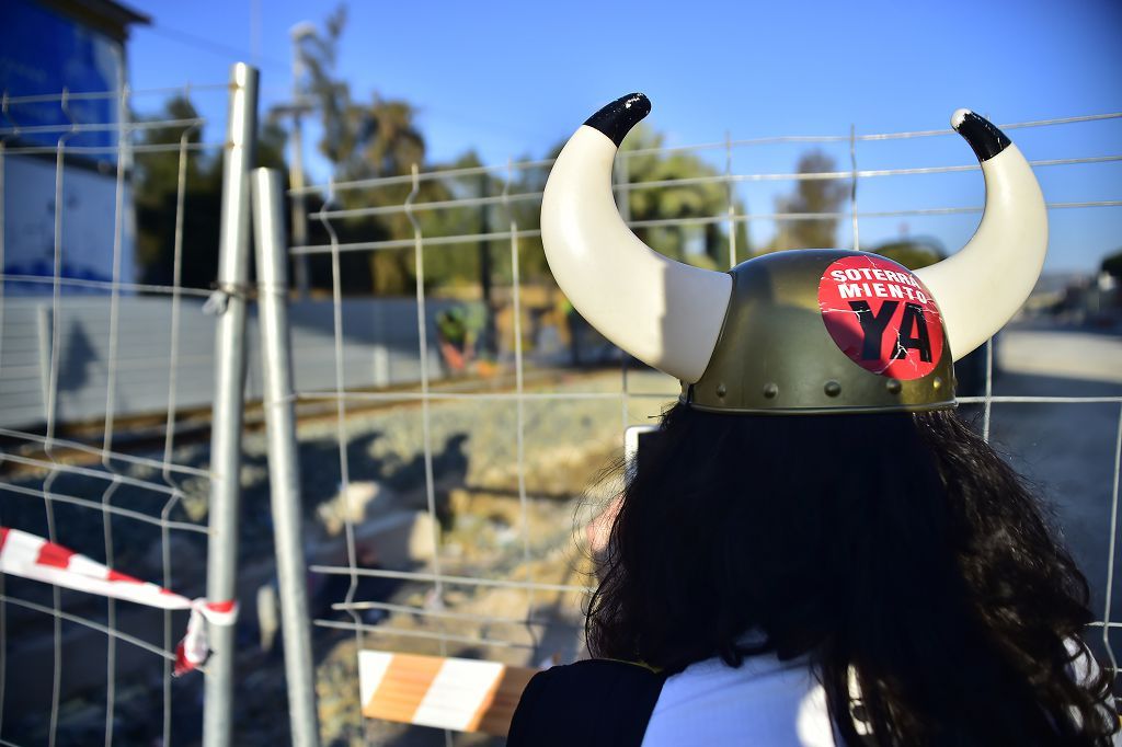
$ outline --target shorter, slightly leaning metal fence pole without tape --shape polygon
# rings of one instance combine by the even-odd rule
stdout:
[[[258,324],[265,378],[265,428],[268,436],[269,492],[273,504],[273,544],[280,585],[280,629],[288,681],[292,744],[315,747],[319,726],[312,634],[301,543],[300,460],[293,414],[292,348],[288,338],[287,245],[280,174],[254,172],[254,238],[257,248]]]

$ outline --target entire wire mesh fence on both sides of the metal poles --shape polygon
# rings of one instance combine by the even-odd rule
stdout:
[[[208,178],[222,128],[194,107],[151,120],[129,112],[144,96],[196,102],[228,90],[0,102],[0,525],[191,597],[204,589],[197,559],[214,477],[206,442],[214,321],[202,311],[212,278],[192,275],[191,258],[218,238],[197,225],[217,208],[192,204],[188,187]],[[119,100],[119,121],[75,116],[75,102],[91,96]],[[58,108],[68,125],[30,126],[21,116],[29,105]],[[1106,113],[1002,126],[1038,155],[1054,249],[1077,240],[1076,223],[1088,215],[1118,220],[1120,195],[1080,192],[1068,186],[1077,179],[1050,175],[1118,169],[1122,155],[1085,151],[1106,130],[1084,133],[1114,128],[1105,139],[1116,146],[1120,121],[1122,113]],[[83,139],[105,133],[109,145]],[[790,170],[807,147],[849,168]],[[651,166],[683,155],[709,170],[681,177]],[[868,237],[900,221],[911,234],[965,242],[983,194],[977,166],[962,165],[967,155],[949,130],[726,137],[625,149],[615,188],[622,214],[649,243],[719,268],[781,243],[800,223],[828,222],[836,243],[854,248],[877,248]],[[617,487],[615,477],[595,478],[618,457],[624,428],[652,422],[677,389],[620,356],[553,287],[537,230],[551,164],[414,166],[288,195],[310,208],[307,240],[289,255],[311,290],[292,301],[289,316],[324,743],[377,744],[408,731],[404,738],[419,744],[478,744],[364,720],[364,647],[512,664],[582,652],[595,519]],[[138,193],[146,169],[174,174],[163,202]],[[935,182],[962,202],[923,204],[910,179]],[[25,212],[15,201],[31,200],[40,182],[47,223],[27,231],[47,250],[37,264],[13,261],[11,229]],[[76,182],[82,190],[68,192]],[[800,182],[842,185],[845,209],[771,208],[770,185]],[[666,195],[681,206],[675,216],[644,216],[646,202]],[[86,218],[81,199],[100,206],[102,219]],[[149,250],[136,231],[146,220],[164,227],[171,251],[141,275],[131,258]],[[72,232],[75,225],[83,230]],[[83,239],[111,248],[108,274],[71,262]],[[1054,326],[1030,314],[1002,333],[969,363],[980,375],[962,402],[1057,501],[1113,664],[1122,625],[1113,594],[1116,338]],[[250,334],[247,345],[256,344]],[[248,361],[248,395],[259,399],[257,356]],[[239,744],[287,738],[276,718],[284,691],[275,646],[276,597],[285,589],[274,577],[267,444],[257,422],[251,413],[241,473],[246,610],[236,698],[247,719],[260,718],[239,727]],[[171,676],[184,615],[3,575],[0,584],[0,741],[197,741],[201,681]]]

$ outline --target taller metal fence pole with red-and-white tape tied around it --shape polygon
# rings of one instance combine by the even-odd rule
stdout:
[[[219,312],[214,338],[214,411],[211,430],[210,542],[206,598],[234,599],[238,559],[238,502],[241,419],[246,389],[246,295],[249,277],[249,166],[257,137],[257,70],[245,63],[230,71],[230,110],[222,168],[219,236]],[[227,747],[233,707],[233,626],[211,625],[213,655],[206,663],[203,744]]]

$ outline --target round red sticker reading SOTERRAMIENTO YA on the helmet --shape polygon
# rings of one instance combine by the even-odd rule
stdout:
[[[833,262],[818,283],[818,307],[842,352],[873,374],[918,379],[942,356],[942,320],[931,293],[884,257]]]

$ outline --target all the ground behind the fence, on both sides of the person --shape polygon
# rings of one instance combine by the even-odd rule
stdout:
[[[1118,335],[1012,329],[1002,334],[997,353],[995,395],[1122,395],[1122,338]],[[338,423],[332,417],[304,418],[298,440],[310,562],[346,566],[350,523],[359,538],[353,547],[358,568],[432,572],[439,565],[441,573],[449,575],[587,587],[591,583],[591,565],[581,527],[614,494],[617,483],[605,470],[620,455],[623,428],[625,424],[652,422],[677,394],[674,382],[666,377],[632,371],[627,377],[632,396],[624,399],[619,396],[620,378],[618,369],[607,369],[552,379],[528,388],[532,396],[523,400],[521,412],[511,398],[433,400],[427,412],[431,465],[424,458],[426,413],[419,404],[351,413],[342,427],[342,454],[349,468],[346,487]],[[963,414],[977,418],[978,427],[983,426],[982,408],[964,407]],[[1106,605],[1111,538],[1116,529],[1111,517],[1116,499],[1120,405],[1000,403],[993,405],[991,418],[994,443],[1055,506],[1057,524],[1091,581],[1095,609],[1102,610],[1104,618],[1122,618],[1122,594],[1112,596],[1110,609]],[[239,577],[243,614],[238,629],[236,744],[273,746],[287,744],[288,732],[280,643],[276,638],[270,649],[263,648],[261,615],[256,601],[261,589],[268,590],[274,583],[264,434],[247,434],[245,448]],[[174,461],[204,467],[209,461],[206,444],[181,446]],[[431,495],[425,479],[430,467]],[[128,468],[128,473],[153,477],[134,467]],[[42,487],[42,474],[34,473],[19,478],[28,488]],[[206,480],[192,478],[181,481],[180,487],[184,498],[171,508],[169,515],[204,524]],[[54,489],[100,500],[104,485],[59,478]],[[429,520],[430,500],[435,524]],[[125,487],[113,496],[113,504],[159,513],[159,505],[153,507],[151,496]],[[61,542],[95,557],[104,553],[105,527],[101,523],[89,520],[88,514],[73,506],[58,504],[54,510]],[[43,513],[42,500],[6,499],[0,506],[0,523],[45,533]],[[377,531],[390,525],[405,527],[399,536],[395,535],[399,545],[396,551],[389,550],[389,535]],[[204,535],[175,532],[165,544],[158,529],[147,525],[114,519],[109,527],[118,568],[159,581],[166,547],[173,557],[168,583],[183,593],[202,593],[204,569],[196,559],[204,557]],[[4,583],[6,594],[52,603],[49,588],[33,588],[18,580]],[[360,717],[360,648],[519,665],[572,661],[582,653],[587,598],[580,591],[531,592],[445,583],[436,596],[430,582],[362,579],[350,594],[352,601],[381,607],[359,603],[348,611],[339,605],[348,599],[349,575],[310,573],[309,584],[312,614],[319,621],[313,627],[313,646],[325,745],[449,744],[438,730]],[[89,619],[107,619],[103,602],[91,603],[65,593],[63,606]],[[386,606],[390,609],[384,609]],[[3,668],[9,686],[3,697],[0,736],[16,744],[39,744],[49,718],[52,672],[40,664],[37,676],[24,673],[31,662],[42,663],[50,656],[53,628],[49,618],[39,614],[12,605],[6,611],[8,661]],[[160,646],[168,639],[174,643],[185,624],[180,615],[165,620],[158,612],[118,611],[120,628],[135,630]],[[64,638],[92,639],[80,638],[79,628],[64,624]],[[445,640],[431,637],[436,635]],[[104,636],[95,637],[100,648],[86,647],[79,653],[77,648],[64,647],[59,745],[100,744],[104,738],[107,676],[105,658],[100,653],[104,651]],[[163,744],[167,688],[172,695],[171,741],[196,744],[201,736],[202,676],[166,682],[159,660],[146,652],[137,654],[134,648],[123,643],[117,646],[114,740]],[[11,686],[17,672],[21,677],[18,689]],[[502,744],[472,735],[452,735],[449,740],[456,745]]]

